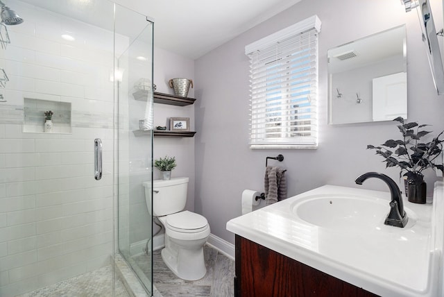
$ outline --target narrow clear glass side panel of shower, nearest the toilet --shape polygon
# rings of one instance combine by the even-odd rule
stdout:
[[[135,15],[128,15],[128,14]],[[127,20],[132,19],[128,23]],[[152,214],[144,183],[151,184],[153,155],[153,23],[116,9],[118,110],[118,246],[147,291],[152,292]],[[130,28],[136,35],[126,33]]]

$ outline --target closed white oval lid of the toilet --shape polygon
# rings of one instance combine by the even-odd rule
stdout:
[[[185,210],[184,212],[169,214],[167,216],[167,225],[172,230],[178,232],[200,232],[207,228],[208,221],[200,214]]]

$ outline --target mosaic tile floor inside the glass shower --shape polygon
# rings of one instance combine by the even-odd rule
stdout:
[[[83,273],[55,285],[37,289],[16,297],[108,297],[112,296],[112,266]],[[116,297],[129,297],[116,278]]]

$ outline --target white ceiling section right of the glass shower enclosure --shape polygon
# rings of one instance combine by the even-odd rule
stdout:
[[[162,0],[148,5],[155,46],[196,59],[301,0]]]

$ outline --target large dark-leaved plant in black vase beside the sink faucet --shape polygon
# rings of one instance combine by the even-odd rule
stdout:
[[[398,128],[402,139],[388,139],[382,146],[369,144],[367,148],[375,149],[377,155],[381,155],[386,162],[386,167],[400,167],[400,177],[407,178],[407,198],[413,203],[425,203],[427,185],[422,171],[428,168],[437,168],[443,171],[443,164],[434,161],[443,151],[444,140],[439,139],[443,132],[434,137],[431,142],[420,142],[420,139],[431,131],[422,130],[429,125],[418,125],[416,122],[404,123],[402,117],[393,121],[399,121]]]

